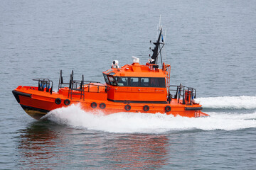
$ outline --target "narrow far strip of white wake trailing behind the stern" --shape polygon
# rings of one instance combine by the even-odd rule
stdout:
[[[196,98],[203,108],[255,109],[256,96],[224,96]]]

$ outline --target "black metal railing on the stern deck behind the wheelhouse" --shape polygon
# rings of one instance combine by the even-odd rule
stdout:
[[[172,95],[171,92],[175,94]],[[180,99],[182,99],[182,104],[192,105],[193,99],[196,98],[196,89],[183,86],[182,84],[180,84],[179,86],[170,85],[168,98],[169,102],[171,101],[171,98],[176,98],[178,100],[178,103]]]

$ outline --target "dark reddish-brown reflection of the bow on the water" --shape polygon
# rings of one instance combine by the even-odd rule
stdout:
[[[48,168],[56,163],[49,159],[58,157],[58,148],[61,147],[61,137],[58,135],[58,125],[50,125],[47,122],[35,122],[26,129],[20,130],[18,145],[19,164],[25,167]]]

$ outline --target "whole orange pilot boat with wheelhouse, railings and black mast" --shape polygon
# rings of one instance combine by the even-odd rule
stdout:
[[[33,79],[37,86],[18,86],[13,92],[16,101],[31,117],[39,120],[56,108],[79,104],[82,110],[90,113],[164,113],[189,118],[208,116],[203,113],[200,103],[196,103],[196,89],[170,85],[171,66],[161,57],[164,47],[162,27],[154,42],[153,54],[149,62],[140,64],[133,57],[132,64],[119,67],[118,61],[103,73],[105,83],[74,79],[70,74],[68,82],[63,81],[60,70],[58,91],[53,91],[50,79]],[[161,62],[158,63],[158,58]]]

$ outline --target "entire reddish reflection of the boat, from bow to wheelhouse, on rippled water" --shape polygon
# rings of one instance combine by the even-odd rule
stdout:
[[[112,134],[49,122],[32,123],[18,133],[18,163],[24,168],[157,169],[167,164],[165,135]]]

